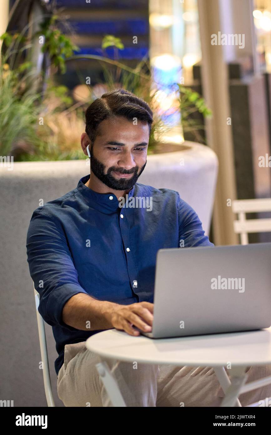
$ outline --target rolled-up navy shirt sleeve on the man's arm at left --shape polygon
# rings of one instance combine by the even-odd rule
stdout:
[[[87,292],[78,282],[61,226],[43,211],[34,211],[27,231],[26,247],[30,275],[40,294],[40,315],[51,326],[60,325],[75,331],[62,320],[62,310],[72,296]]]

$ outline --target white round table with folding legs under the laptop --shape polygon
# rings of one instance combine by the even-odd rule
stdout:
[[[87,349],[100,357],[146,364],[213,367],[225,393],[221,406],[241,406],[238,396],[271,384],[271,376],[247,385],[245,369],[251,365],[271,364],[271,327],[259,331],[152,339],[133,337],[124,331],[109,329],[92,335]],[[231,368],[231,381],[224,366]],[[105,362],[97,364],[114,406],[126,406],[117,383]]]

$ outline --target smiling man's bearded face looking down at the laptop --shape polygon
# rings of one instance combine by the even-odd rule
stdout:
[[[149,127],[147,122],[124,117],[108,118],[98,127],[90,147],[90,170],[110,189],[131,189],[147,163]]]

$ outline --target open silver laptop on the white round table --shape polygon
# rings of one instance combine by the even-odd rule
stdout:
[[[160,249],[150,338],[271,325],[271,243]]]

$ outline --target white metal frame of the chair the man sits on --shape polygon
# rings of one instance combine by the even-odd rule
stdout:
[[[40,295],[35,289],[34,283],[33,283],[33,288],[34,288],[34,296],[35,296],[35,303],[36,303],[37,324],[38,324],[38,331],[39,331],[40,355],[41,355],[41,361],[43,363],[43,383],[44,383],[45,396],[47,400],[47,405],[49,407],[53,407],[55,406],[55,404],[54,404],[52,385],[50,379],[50,369],[49,369],[49,361],[48,361],[44,320],[38,311],[38,307],[40,305]]]

